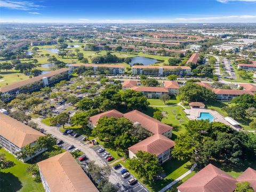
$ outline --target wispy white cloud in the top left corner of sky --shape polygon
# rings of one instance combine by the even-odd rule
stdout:
[[[14,9],[14,10],[37,10],[41,7],[44,7],[42,5],[37,5],[33,2],[28,1],[6,1],[6,0],[0,0],[0,7],[5,7],[7,9]]]

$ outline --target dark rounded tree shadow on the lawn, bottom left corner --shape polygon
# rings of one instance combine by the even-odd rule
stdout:
[[[12,173],[0,172],[0,191],[16,192],[22,188],[22,183],[18,177]]]

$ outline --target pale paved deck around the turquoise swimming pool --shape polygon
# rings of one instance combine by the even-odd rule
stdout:
[[[237,130],[236,127],[228,123],[224,117],[219,114],[217,111],[211,110],[211,109],[185,109],[184,112],[187,114],[186,116],[190,120],[198,120],[197,117],[200,116],[200,113],[210,113],[214,116],[213,122],[221,122],[226,125],[229,125],[233,129]]]

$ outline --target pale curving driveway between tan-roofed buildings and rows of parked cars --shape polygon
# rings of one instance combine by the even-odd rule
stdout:
[[[108,165],[108,163],[102,161],[102,158],[99,157],[98,154],[95,153],[95,151],[91,147],[86,145],[85,142],[70,137],[69,135],[63,135],[62,132],[59,131],[58,127],[48,126],[42,123],[41,118],[33,118],[31,120],[37,123],[39,127],[43,128],[46,133],[50,133],[57,137],[57,139],[61,139],[65,143],[69,143],[68,145],[74,145],[75,148],[78,148],[79,150],[83,151],[83,153],[90,159],[90,161],[94,161],[95,164],[98,164],[99,166]],[[120,177],[120,175],[114,172],[113,169],[111,169],[109,181],[114,185],[117,185],[120,189],[119,191],[126,191],[127,183],[125,183],[125,181]]]

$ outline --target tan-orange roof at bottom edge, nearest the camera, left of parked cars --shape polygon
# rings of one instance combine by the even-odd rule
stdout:
[[[98,191],[68,151],[37,164],[51,192]]]

